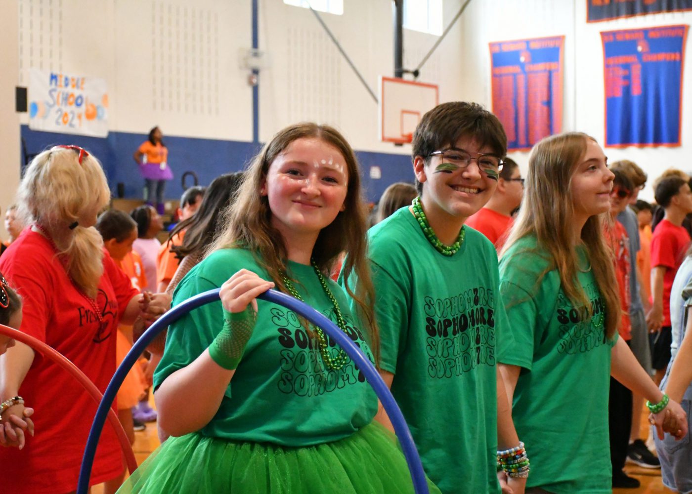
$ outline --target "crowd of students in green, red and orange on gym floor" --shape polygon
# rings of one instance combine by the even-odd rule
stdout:
[[[100,164],[54,147],[20,186],[28,226],[0,257],[0,322],[103,390],[171,295],[175,305],[221,289],[172,324],[120,390],[132,437],[153,385],[162,444],[123,484],[104,430],[91,481],[109,492],[412,492],[358,367],[321,329],[258,300],[267,289],[318,309],[376,363],[432,493],[633,486],[625,457],[656,461],[634,425],[644,400],[664,482],[689,491],[687,181],[657,183],[664,217],[639,257],[647,209],[630,203],[646,176],[634,163],[608,165],[576,132],[540,141],[526,179],[506,153],[492,113],[440,104],[413,136],[415,189],[390,187],[368,230],[345,138],[291,125],[242,174],[183,196],[188,211],[161,246],[155,208],[97,219],[109,199]],[[647,259],[651,300],[640,295]],[[665,371],[671,343],[659,389],[650,367]],[[0,444],[17,446],[0,462],[26,492],[71,492],[95,407],[26,345],[0,344]]]

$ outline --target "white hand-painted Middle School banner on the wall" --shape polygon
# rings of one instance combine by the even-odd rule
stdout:
[[[29,71],[29,128],[108,136],[106,81],[60,72]]]

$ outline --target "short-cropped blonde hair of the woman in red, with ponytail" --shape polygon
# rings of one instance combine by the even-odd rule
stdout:
[[[53,147],[37,155],[26,169],[17,192],[21,215],[55,237],[57,255],[73,283],[96,298],[103,274],[103,241],[98,230],[80,225],[83,214],[104,208],[111,191],[99,161],[75,149]],[[62,233],[64,232],[64,233]]]

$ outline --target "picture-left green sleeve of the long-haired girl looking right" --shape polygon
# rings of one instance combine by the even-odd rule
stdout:
[[[507,311],[509,331],[514,344],[498,349],[500,363],[531,370],[534,361],[534,333],[538,320],[536,301],[527,291],[512,282],[500,283],[500,296]]]

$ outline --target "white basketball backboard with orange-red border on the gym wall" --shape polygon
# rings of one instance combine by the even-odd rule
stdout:
[[[380,77],[379,132],[383,143],[410,143],[426,111],[437,106],[437,84]]]

